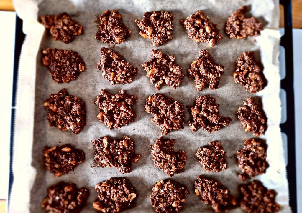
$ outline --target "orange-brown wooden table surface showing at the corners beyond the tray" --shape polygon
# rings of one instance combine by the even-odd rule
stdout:
[[[0,0],[0,11],[14,11],[12,0]],[[280,27],[284,27],[284,13],[280,6]],[[292,0],[293,28],[302,29],[302,0]],[[5,200],[0,200],[0,213],[5,212]]]

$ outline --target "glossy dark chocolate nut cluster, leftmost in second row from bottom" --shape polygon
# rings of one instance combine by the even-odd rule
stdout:
[[[69,171],[85,160],[85,154],[80,149],[75,149],[69,143],[52,148],[44,147],[44,162],[48,171],[56,177],[68,174]]]

